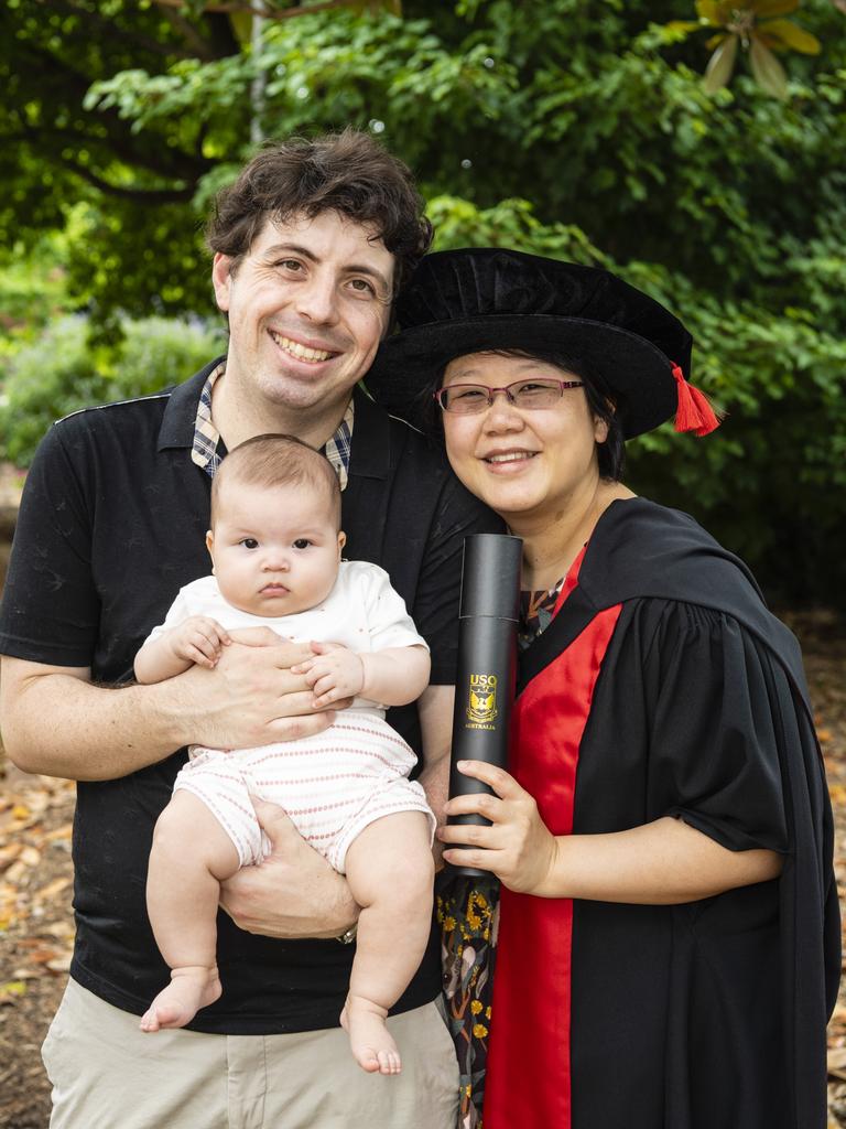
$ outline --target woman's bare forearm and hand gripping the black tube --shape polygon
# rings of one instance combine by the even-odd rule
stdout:
[[[491,826],[442,826],[449,863],[494,873],[509,890],[538,898],[582,898],[634,904],[675,904],[776,878],[783,856],[770,850],[731,851],[680,819],[666,816],[627,831],[553,835],[537,804],[513,777],[481,761],[460,771],[488,784],[495,796],[462,796],[448,815],[477,813]]]

